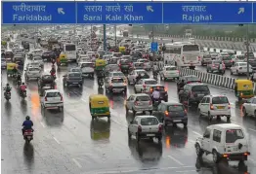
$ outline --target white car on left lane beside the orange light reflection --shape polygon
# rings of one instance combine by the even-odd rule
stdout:
[[[64,98],[58,89],[47,89],[44,91],[41,98],[41,106],[43,109],[55,109],[59,111],[64,110]]]

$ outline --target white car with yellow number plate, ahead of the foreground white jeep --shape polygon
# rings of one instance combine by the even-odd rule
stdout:
[[[207,116],[209,121],[213,117],[227,117],[228,121],[231,119],[231,104],[225,95],[204,96],[198,105],[198,111],[200,116]]]

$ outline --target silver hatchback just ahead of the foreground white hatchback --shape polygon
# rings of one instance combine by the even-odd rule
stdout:
[[[129,111],[133,111],[135,115],[137,112],[146,112],[152,113],[152,101],[148,94],[146,93],[138,93],[132,94],[127,100],[125,104],[126,113]]]

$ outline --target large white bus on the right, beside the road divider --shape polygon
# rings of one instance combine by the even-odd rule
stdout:
[[[195,66],[200,65],[200,47],[197,44],[192,44],[191,42],[175,42],[166,44],[165,47],[165,62],[171,61],[171,64],[175,66],[190,67],[190,69],[194,69]]]

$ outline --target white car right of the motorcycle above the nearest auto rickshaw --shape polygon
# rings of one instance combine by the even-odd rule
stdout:
[[[127,91],[126,80],[121,77],[109,78],[107,83],[105,83],[105,88],[110,93],[120,92],[120,91],[126,93]]]

